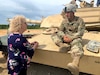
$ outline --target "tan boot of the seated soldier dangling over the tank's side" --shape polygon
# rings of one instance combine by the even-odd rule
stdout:
[[[79,75],[80,56],[74,57],[72,63],[68,63],[67,68],[73,75]]]

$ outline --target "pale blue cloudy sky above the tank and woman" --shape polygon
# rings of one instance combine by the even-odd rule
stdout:
[[[71,0],[0,0],[0,24],[8,24],[7,19],[15,15],[24,15],[32,20],[41,20],[42,16],[59,14]],[[91,0],[85,0],[90,2]],[[96,4],[96,0],[94,0]],[[79,2],[77,2],[79,4]]]

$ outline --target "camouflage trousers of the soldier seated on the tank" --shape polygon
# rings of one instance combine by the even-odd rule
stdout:
[[[52,40],[54,41],[54,43],[56,44],[57,42],[63,42],[63,36],[65,34],[62,32],[57,32],[51,35]],[[81,38],[77,38],[74,39],[72,42],[70,43],[66,43],[69,44],[71,46],[71,50],[69,51],[69,53],[71,53],[72,57],[75,56],[82,56],[83,55],[83,45],[82,45],[82,39]]]

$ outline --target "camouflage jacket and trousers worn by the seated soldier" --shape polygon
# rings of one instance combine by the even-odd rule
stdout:
[[[71,52],[76,53],[78,55],[83,54],[83,48],[82,48],[82,36],[84,34],[85,30],[85,23],[84,21],[79,18],[75,17],[75,19],[72,22],[69,22],[66,18],[60,28],[60,30],[57,33],[54,33],[51,37],[52,40],[57,42],[64,42],[63,36],[67,35],[69,38],[72,39],[72,42],[68,43],[71,45]]]

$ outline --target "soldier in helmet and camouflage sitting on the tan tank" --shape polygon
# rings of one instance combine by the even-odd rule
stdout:
[[[74,15],[76,7],[68,4],[64,8],[66,18],[62,21],[59,31],[52,34],[51,38],[59,46],[60,52],[69,52],[73,61],[67,65],[74,74],[79,74],[79,61],[83,55],[82,36],[85,30],[83,19]],[[69,51],[70,50],[70,51]]]

